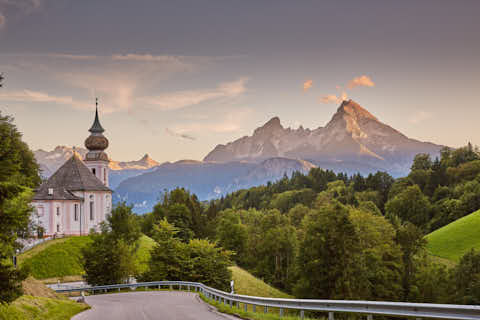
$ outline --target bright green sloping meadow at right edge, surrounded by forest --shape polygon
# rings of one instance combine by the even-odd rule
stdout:
[[[472,248],[480,250],[480,210],[426,236],[430,254],[458,262]]]

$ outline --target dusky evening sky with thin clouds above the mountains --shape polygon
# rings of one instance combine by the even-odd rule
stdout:
[[[351,98],[422,141],[480,144],[478,0],[0,0],[0,111],[30,148],[201,160]]]

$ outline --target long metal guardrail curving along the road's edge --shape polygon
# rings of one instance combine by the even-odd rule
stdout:
[[[188,291],[203,293],[207,298],[217,302],[228,304],[231,307],[235,304],[237,308],[240,303],[244,310],[250,304],[253,311],[256,307],[263,307],[263,311],[268,312],[268,308],[278,308],[280,316],[283,316],[285,309],[300,311],[300,318],[303,319],[305,311],[328,312],[328,319],[334,320],[334,312],[359,313],[367,316],[367,320],[372,320],[373,315],[395,316],[395,317],[413,317],[434,318],[434,319],[458,319],[458,320],[480,320],[480,306],[476,305],[452,305],[452,304],[432,304],[432,303],[409,303],[409,302],[377,302],[377,301],[356,301],[356,300],[312,300],[312,299],[277,299],[263,298],[254,296],[245,296],[231,294],[214,288],[210,288],[202,283],[188,281],[154,281],[132,284],[115,284],[95,287],[77,287],[69,289],[57,289],[56,292],[80,292],[89,291],[108,292],[112,290],[120,291],[124,288],[157,288],[168,287],[172,289],[185,288]]]

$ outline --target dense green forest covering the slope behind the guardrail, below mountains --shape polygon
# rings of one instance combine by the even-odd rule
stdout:
[[[447,269],[424,236],[480,209],[480,157],[470,144],[415,157],[407,177],[308,174],[201,203],[178,188],[139,217],[154,236],[166,220],[178,238],[209,239],[239,266],[299,298],[480,302],[480,254]]]

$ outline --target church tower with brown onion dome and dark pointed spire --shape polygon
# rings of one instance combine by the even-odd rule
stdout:
[[[88,149],[84,159],[85,165],[108,187],[108,163],[110,161],[104,152],[108,148],[108,139],[103,135],[105,130],[98,120],[98,99],[95,101],[95,120],[88,131],[90,131],[90,136],[85,140],[85,147]]]

